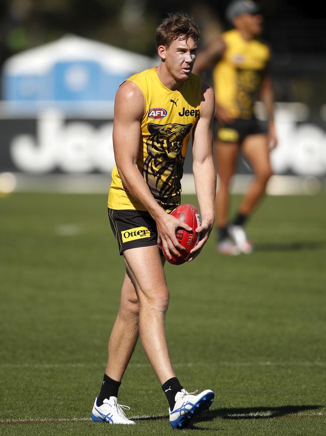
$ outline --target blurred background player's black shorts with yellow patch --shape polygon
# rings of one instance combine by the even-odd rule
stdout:
[[[241,145],[246,136],[261,133],[266,134],[267,131],[257,118],[235,118],[232,123],[218,126],[216,138],[222,142],[236,142]]]

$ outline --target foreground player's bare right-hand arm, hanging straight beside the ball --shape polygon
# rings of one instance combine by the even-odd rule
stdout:
[[[213,158],[212,120],[215,111],[214,91],[203,83],[200,118],[193,132],[193,173],[202,225],[196,230],[201,240],[191,250],[194,259],[206,243],[215,219],[216,170]]]

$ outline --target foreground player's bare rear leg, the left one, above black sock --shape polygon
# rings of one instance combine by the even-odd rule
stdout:
[[[127,368],[138,339],[139,301],[135,287],[126,271],[121,289],[120,307],[110,339],[106,371],[113,380],[120,381]]]

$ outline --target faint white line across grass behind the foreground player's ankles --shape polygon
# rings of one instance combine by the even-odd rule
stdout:
[[[32,369],[60,369],[60,368],[94,368],[101,364],[83,363],[83,362],[66,362],[61,364],[56,363],[31,363],[31,364],[0,364],[0,368],[16,369],[16,368],[32,368]],[[105,363],[103,363],[105,365]],[[189,362],[189,363],[177,363],[175,367],[325,367],[326,362]],[[150,368],[150,364],[129,364],[130,368]]]

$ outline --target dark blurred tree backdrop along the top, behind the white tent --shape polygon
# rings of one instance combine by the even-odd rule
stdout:
[[[326,69],[324,4],[306,5],[295,0],[257,2],[265,18],[264,37],[273,50],[272,68],[279,74],[278,98],[324,101],[324,92],[320,93]],[[225,21],[229,3],[230,0],[0,0],[0,66],[15,53],[67,33],[155,56],[155,28],[169,12],[177,11],[194,16],[202,31],[201,44],[206,44],[230,27]],[[307,74],[314,77],[307,78]]]

